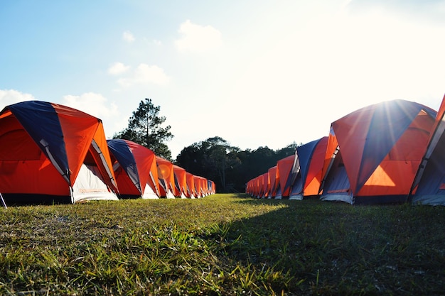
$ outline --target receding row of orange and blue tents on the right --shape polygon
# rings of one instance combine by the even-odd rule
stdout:
[[[350,204],[445,205],[445,97],[439,111],[404,100],[372,104],[331,124],[247,182],[258,198]]]

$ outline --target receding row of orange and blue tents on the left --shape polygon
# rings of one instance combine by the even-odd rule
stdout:
[[[148,148],[107,140],[102,121],[77,109],[28,101],[0,112],[0,197],[6,203],[199,198],[213,193],[213,181]]]

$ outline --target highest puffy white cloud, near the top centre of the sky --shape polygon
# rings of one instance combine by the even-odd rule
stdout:
[[[180,52],[203,53],[223,44],[220,31],[212,26],[199,26],[187,20],[181,23],[178,32],[182,37],[175,41],[175,45]]]

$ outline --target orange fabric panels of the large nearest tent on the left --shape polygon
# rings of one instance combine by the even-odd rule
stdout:
[[[67,184],[50,163],[50,160],[46,158],[11,111],[5,110],[0,116],[0,141],[3,144],[0,148],[0,160],[1,165],[10,170],[8,176],[1,181],[0,192],[69,196],[69,186],[74,184],[87,155],[90,155],[90,158],[91,156],[97,158],[94,151],[90,149],[93,138],[102,149],[102,155],[107,160],[106,165],[109,167],[110,174],[113,175],[108,146],[100,120],[70,107],[58,104],[51,104],[51,106],[57,113],[63,133],[65,151],[61,152],[66,152],[68,158],[70,184]],[[9,162],[12,158],[16,161],[20,160],[20,163],[12,165]],[[100,165],[102,165],[102,160],[100,160]],[[11,171],[13,167],[14,172]],[[5,176],[5,174],[3,175]],[[108,174],[104,175],[105,182],[110,183],[107,176]],[[112,189],[116,189],[112,184],[109,185]],[[5,187],[4,190],[1,190],[1,187]]]

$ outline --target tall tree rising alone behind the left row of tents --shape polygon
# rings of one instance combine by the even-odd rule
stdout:
[[[154,106],[151,99],[142,100],[136,111],[129,118],[127,128],[115,133],[113,138],[122,138],[138,143],[153,152],[171,160],[171,151],[166,145],[166,141],[173,138],[170,132],[171,126],[162,127],[166,121],[165,116],[159,116],[160,106]]]

